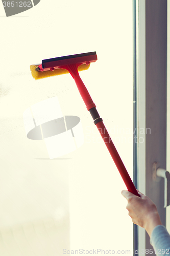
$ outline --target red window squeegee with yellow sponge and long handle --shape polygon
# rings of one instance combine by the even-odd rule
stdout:
[[[95,62],[97,59],[98,58],[96,52],[89,52],[58,58],[44,59],[40,65],[31,65],[30,69],[35,80],[60,74],[71,74],[77,84],[77,88],[80,92],[80,95],[82,96],[82,99],[84,100],[86,108],[90,112],[94,120],[94,124],[98,128],[105,142],[105,145],[107,146],[108,151],[120,175],[122,176],[125,185],[127,186],[127,189],[134,195],[139,196],[135,185],[133,184],[127,172],[127,169],[106,130],[103,120],[96,110],[96,106],[79,75],[79,71],[88,69],[90,63]]]

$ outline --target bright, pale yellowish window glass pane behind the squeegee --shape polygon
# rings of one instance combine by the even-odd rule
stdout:
[[[74,79],[30,72],[42,59],[96,51],[80,76],[132,177],[132,3],[33,2],[9,17],[1,6],[0,254],[132,254],[126,186]]]

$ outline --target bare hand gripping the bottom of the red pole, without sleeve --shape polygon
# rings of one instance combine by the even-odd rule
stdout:
[[[127,190],[122,190],[121,194],[128,200],[127,209],[134,224],[143,227],[151,237],[151,233],[157,225],[162,225],[156,205],[152,200],[139,193],[135,196]]]

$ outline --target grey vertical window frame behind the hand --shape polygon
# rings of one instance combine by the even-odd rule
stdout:
[[[164,181],[153,180],[153,164],[166,169],[167,0],[136,0],[136,8],[137,188],[157,205],[165,226]],[[134,241],[144,255],[153,247],[145,230],[137,230]]]

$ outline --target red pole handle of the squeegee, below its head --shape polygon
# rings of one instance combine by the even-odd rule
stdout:
[[[71,76],[75,79],[78,90],[84,100],[84,103],[86,104],[87,110],[89,111],[90,109],[95,108],[95,104],[92,101],[91,96],[90,96],[89,92],[87,91],[87,88],[85,87],[82,79],[79,76],[76,65],[74,67],[67,66],[67,70],[70,72]],[[119,154],[118,154],[118,152],[117,152],[117,150],[116,150],[116,148],[106,130],[106,127],[103,123],[102,118],[100,118],[99,113],[97,111],[95,111],[95,113],[97,113],[98,115],[96,116],[96,119],[93,118],[93,119],[95,119],[94,123],[98,127],[98,130],[105,142],[105,145],[107,146],[108,151],[109,151],[120,175],[122,176],[122,178],[125,182],[125,185],[127,186],[127,189],[134,195],[139,196],[139,194],[135,188],[135,185],[133,184],[133,182],[127,172],[127,169],[126,169],[122,159],[120,158],[120,156],[119,156]]]

